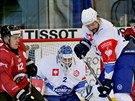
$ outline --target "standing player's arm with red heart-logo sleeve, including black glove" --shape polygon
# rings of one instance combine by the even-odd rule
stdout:
[[[112,76],[114,73],[114,67],[116,62],[115,48],[117,45],[117,40],[108,39],[102,42],[98,49],[101,52],[102,59],[104,62],[104,80],[101,81],[103,87],[98,87],[100,92],[100,97],[106,97],[109,95],[112,89]]]

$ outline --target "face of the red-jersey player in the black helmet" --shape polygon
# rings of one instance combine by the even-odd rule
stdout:
[[[19,47],[19,42],[20,42],[19,34],[15,34],[10,37],[10,47],[12,49],[17,49]]]

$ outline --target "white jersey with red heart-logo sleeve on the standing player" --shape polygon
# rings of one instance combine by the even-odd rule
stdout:
[[[95,53],[101,56],[105,65],[115,65],[116,60],[120,56],[123,48],[128,44],[128,41],[122,37],[117,28],[109,21],[101,18],[100,27],[96,33],[93,34],[86,26],[82,26],[84,38],[88,39]],[[111,70],[111,69],[110,69]],[[111,72],[109,70],[109,72]],[[106,75],[107,76],[107,75]],[[112,74],[108,75],[111,79]]]

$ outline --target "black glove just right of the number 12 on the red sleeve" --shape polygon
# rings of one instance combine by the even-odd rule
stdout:
[[[27,62],[26,63],[26,74],[28,76],[36,76],[37,75],[37,66],[30,59],[27,59],[26,62]]]

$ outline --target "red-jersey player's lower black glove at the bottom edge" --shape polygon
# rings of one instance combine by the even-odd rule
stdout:
[[[19,101],[34,101],[34,97],[31,94],[27,94],[24,89],[16,94],[16,98]]]

